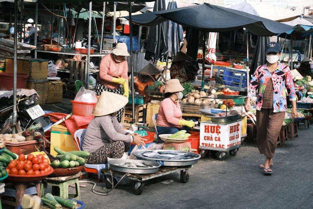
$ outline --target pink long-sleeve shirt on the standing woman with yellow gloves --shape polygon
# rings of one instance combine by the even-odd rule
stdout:
[[[117,63],[114,61],[113,55],[105,55],[100,62],[100,70],[97,79],[110,89],[117,89],[121,84],[111,82],[113,77],[125,78],[128,84],[128,65],[126,59]]]

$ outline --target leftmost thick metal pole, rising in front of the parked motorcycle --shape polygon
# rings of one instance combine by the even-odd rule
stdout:
[[[12,133],[15,133],[15,124],[16,124],[16,85],[17,85],[17,76],[18,76],[18,0],[14,1],[14,66],[13,66],[13,127]]]

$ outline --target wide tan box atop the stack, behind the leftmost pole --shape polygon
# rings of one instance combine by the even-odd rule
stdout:
[[[6,59],[6,72],[13,72],[13,58]],[[48,60],[24,58],[18,59],[18,73],[29,75],[28,80],[47,79],[48,77]]]

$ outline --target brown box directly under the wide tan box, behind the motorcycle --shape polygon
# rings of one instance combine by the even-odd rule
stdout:
[[[29,80],[26,83],[26,88],[35,89],[39,95],[39,100],[37,104],[45,104],[48,97],[48,79],[41,80]]]

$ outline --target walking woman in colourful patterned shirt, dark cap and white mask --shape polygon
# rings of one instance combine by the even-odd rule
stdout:
[[[259,168],[264,170],[264,174],[272,174],[272,158],[287,109],[286,93],[292,103],[292,118],[297,117],[297,108],[291,71],[287,65],[278,62],[281,56],[280,45],[276,42],[266,44],[265,54],[267,64],[260,65],[254,72],[245,110],[250,110],[250,100],[259,89],[256,100],[256,140],[260,153],[266,157],[265,163],[259,165]]]

